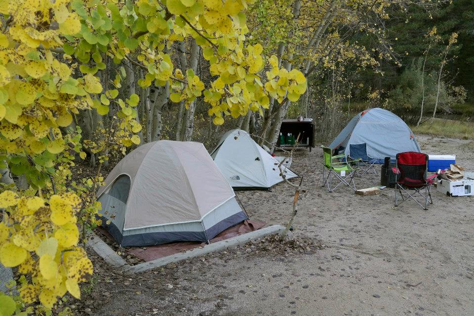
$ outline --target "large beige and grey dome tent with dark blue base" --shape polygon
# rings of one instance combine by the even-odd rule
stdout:
[[[144,144],[105,183],[97,192],[102,226],[121,246],[208,242],[248,219],[201,143]]]

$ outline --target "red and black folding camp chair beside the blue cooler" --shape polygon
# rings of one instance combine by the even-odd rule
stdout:
[[[416,152],[396,154],[396,168],[392,169],[395,174],[398,174],[398,180],[395,183],[395,206],[410,198],[425,210],[428,209],[428,202],[433,204],[430,189],[437,175],[426,177],[428,155]],[[400,193],[402,198],[400,203],[398,203],[397,192]],[[412,193],[410,194],[410,192]],[[408,195],[408,197],[403,194]],[[423,197],[424,205],[415,198],[416,195]]]

